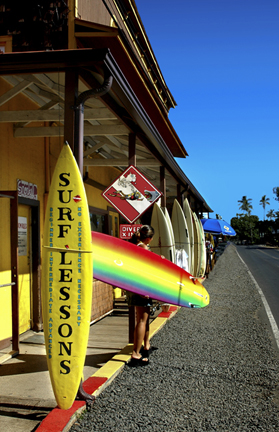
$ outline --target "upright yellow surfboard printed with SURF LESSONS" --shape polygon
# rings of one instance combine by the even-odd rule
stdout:
[[[42,304],[47,364],[58,406],[72,406],[90,328],[93,254],[86,193],[68,144],[58,158],[45,216]]]

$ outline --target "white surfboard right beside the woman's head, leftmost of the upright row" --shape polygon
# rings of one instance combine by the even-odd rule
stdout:
[[[151,226],[154,228],[155,234],[150,243],[150,250],[158,255],[163,255],[166,259],[173,262],[175,246],[166,217],[157,203],[153,205]]]

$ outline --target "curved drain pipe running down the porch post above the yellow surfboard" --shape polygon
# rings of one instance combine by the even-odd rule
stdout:
[[[105,95],[112,86],[112,75],[104,77],[104,82],[101,87],[87,90],[81,93],[77,100],[75,109],[75,144],[74,144],[74,155],[83,176],[83,133],[84,133],[84,104],[87,99],[98,98]]]

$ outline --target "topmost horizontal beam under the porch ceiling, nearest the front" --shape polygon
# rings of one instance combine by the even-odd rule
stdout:
[[[57,104],[57,102],[51,102]],[[38,109],[25,111],[0,111],[0,123],[2,122],[36,122],[36,121],[60,121],[64,119],[64,110]],[[112,120],[117,119],[113,113],[105,108],[85,109],[84,120]]]

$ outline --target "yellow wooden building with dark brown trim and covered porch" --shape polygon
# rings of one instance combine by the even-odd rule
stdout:
[[[175,161],[187,152],[169,121],[176,103],[134,0],[2,0],[0,5],[0,347],[42,330],[44,213],[64,141],[74,151],[92,230],[126,221],[101,192],[135,165],[171,207],[211,212]],[[38,5],[40,3],[40,5]],[[145,215],[145,219],[148,214]],[[113,308],[93,282],[92,320]]]

